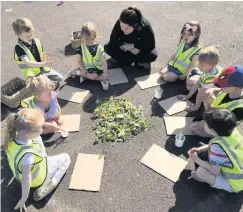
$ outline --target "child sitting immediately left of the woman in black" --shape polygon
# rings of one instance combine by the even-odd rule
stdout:
[[[84,78],[105,81],[108,79],[107,62],[103,47],[96,41],[97,31],[93,23],[84,24],[81,29],[82,44],[76,49],[79,68],[68,73],[68,77],[80,75],[80,83]]]

